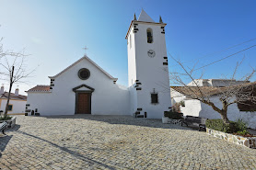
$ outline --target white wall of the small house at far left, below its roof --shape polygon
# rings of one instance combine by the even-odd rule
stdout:
[[[0,99],[0,110],[6,110],[6,99]],[[13,105],[12,111],[8,111],[8,114],[25,113],[26,100],[9,100],[9,105]]]

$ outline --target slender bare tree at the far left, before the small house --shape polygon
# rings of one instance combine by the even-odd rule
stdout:
[[[24,51],[4,51],[3,43],[1,43],[2,40],[0,40],[0,79],[6,81],[9,85],[6,110],[4,112],[4,117],[6,118],[13,85],[16,83],[26,83],[23,80],[28,78],[34,70],[27,70],[28,67],[25,64],[25,59],[28,55],[24,54]]]

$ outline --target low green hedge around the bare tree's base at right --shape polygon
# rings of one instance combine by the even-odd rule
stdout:
[[[247,131],[247,126],[241,119],[238,121],[229,121],[229,124],[225,124],[222,119],[207,119],[205,125],[206,128],[227,133]]]

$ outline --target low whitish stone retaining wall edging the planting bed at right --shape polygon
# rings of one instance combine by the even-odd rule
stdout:
[[[216,138],[225,140],[227,142],[234,142],[245,147],[256,148],[256,137],[242,137],[208,128],[206,128],[206,132]]]

